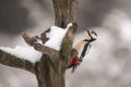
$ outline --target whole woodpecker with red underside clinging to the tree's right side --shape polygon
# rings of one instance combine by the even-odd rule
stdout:
[[[85,57],[86,52],[90,51],[91,48],[91,42],[95,41],[97,38],[97,34],[94,30],[88,30],[86,29],[86,33],[90,38],[85,38],[83,40],[80,40],[76,45],[74,45],[73,49],[78,51],[78,60],[76,57],[72,58],[71,65],[68,67],[72,67],[72,73],[76,70],[78,65],[83,61],[83,58]],[[74,64],[74,59],[75,59],[75,64]]]

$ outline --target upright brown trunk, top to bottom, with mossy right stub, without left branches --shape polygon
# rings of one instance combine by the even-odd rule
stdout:
[[[76,0],[52,0],[55,9],[55,25],[64,28],[68,23],[74,22]],[[64,74],[70,64],[70,51],[76,26],[71,27],[61,45],[60,52],[53,55],[43,54],[39,62],[35,64],[38,87],[66,87]],[[44,39],[43,39],[44,40]]]

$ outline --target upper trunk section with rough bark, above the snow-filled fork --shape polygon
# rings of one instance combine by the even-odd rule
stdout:
[[[66,27],[68,23],[74,22],[76,0],[52,0],[55,9],[55,24]]]

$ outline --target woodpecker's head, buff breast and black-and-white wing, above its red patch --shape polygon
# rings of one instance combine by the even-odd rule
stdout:
[[[78,57],[80,58],[80,62],[83,61],[83,58],[90,51],[91,42],[95,41],[97,38],[97,34],[94,30],[86,29],[86,33],[90,38],[85,38],[79,41],[76,45],[74,45],[74,49],[76,49],[79,52]]]

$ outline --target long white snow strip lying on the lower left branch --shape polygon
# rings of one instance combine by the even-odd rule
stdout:
[[[38,61],[41,57],[41,52],[36,51],[33,47],[21,47],[16,46],[15,48],[0,47],[2,51],[11,53],[20,59],[28,60],[32,63]]]

